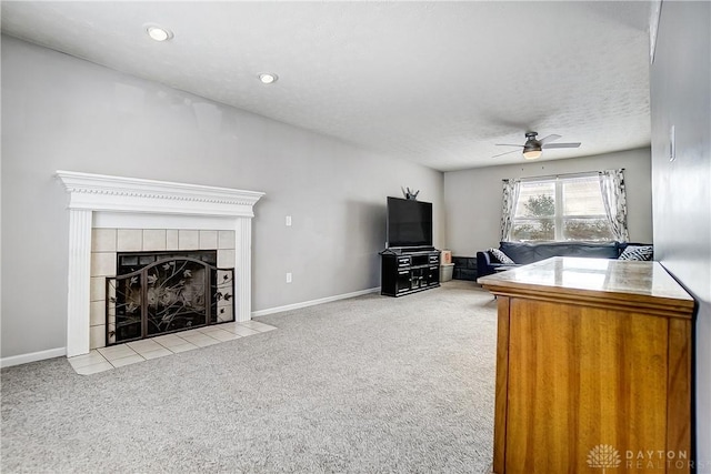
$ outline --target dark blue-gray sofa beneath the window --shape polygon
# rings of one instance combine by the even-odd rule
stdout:
[[[501,242],[499,250],[514,263],[500,263],[489,251],[477,252],[477,278],[490,275],[495,272],[497,268],[510,269],[551,256],[618,259],[628,245],[650,246],[651,244],[631,242]]]

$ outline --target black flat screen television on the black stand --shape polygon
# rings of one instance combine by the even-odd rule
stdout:
[[[432,246],[432,203],[388,198],[388,246]]]

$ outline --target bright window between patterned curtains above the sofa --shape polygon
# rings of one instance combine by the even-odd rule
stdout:
[[[615,240],[600,174],[520,181],[509,240]]]

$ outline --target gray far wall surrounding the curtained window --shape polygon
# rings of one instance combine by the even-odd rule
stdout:
[[[454,255],[474,256],[499,246],[501,180],[624,168],[631,242],[652,242],[650,149],[444,173],[447,244]]]

